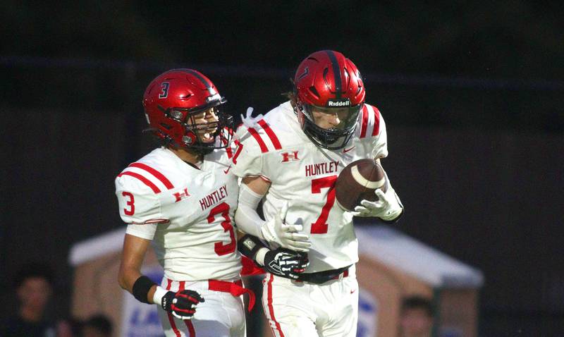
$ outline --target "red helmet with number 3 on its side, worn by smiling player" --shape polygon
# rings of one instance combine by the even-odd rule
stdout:
[[[233,118],[219,108],[226,99],[214,83],[192,69],[172,69],[157,76],[145,90],[143,106],[149,130],[166,144],[195,149],[201,153],[227,147]],[[218,121],[195,123],[194,115],[214,108]],[[214,142],[203,142],[198,130],[214,130]]]

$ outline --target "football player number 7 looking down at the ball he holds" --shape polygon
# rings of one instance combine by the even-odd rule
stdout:
[[[360,72],[337,51],[302,61],[290,100],[264,118],[247,116],[232,171],[243,178],[238,227],[271,247],[307,252],[309,266],[294,278],[269,274],[262,302],[274,336],[356,336],[358,261],[353,216],[394,222],[403,214],[391,188],[376,190],[355,212],[335,202],[335,181],[352,161],[388,155],[386,125],[364,103]],[[389,180],[388,180],[389,182]],[[263,200],[264,219],[256,211]],[[253,250],[262,260],[266,250]]]

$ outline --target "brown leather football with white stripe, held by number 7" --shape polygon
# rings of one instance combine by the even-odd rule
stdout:
[[[382,166],[374,159],[353,161],[341,171],[335,183],[337,204],[347,211],[354,211],[362,200],[378,200],[374,193],[376,188],[384,192],[388,189]]]

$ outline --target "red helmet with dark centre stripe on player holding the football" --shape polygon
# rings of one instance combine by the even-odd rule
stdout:
[[[307,56],[294,77],[295,111],[304,133],[316,145],[341,149],[353,137],[364,104],[364,84],[355,63],[338,51],[322,50]],[[340,109],[342,118],[334,128],[321,128],[312,109]],[[343,109],[345,114],[342,114]]]

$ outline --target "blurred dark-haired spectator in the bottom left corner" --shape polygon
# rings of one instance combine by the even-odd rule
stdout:
[[[26,264],[16,274],[14,288],[18,295],[18,315],[5,322],[0,336],[54,337],[54,325],[44,318],[53,291],[53,271],[44,264]]]

